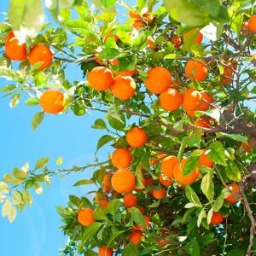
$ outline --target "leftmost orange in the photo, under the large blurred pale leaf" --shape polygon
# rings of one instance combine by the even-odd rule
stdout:
[[[5,37],[5,54],[12,61],[24,61],[26,60],[26,44],[20,44],[18,38],[15,37],[14,32],[9,32],[9,34]]]

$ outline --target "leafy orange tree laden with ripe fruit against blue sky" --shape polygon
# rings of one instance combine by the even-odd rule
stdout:
[[[62,255],[252,255],[255,2],[92,2],[10,1],[0,76],[14,83],[0,90],[12,108],[26,93],[40,104],[32,130],[44,114],[106,113],[92,125],[106,131],[96,151],[113,152],[68,170],[47,158],[15,168],[0,183],[3,216],[13,221],[52,176],[95,168],[74,184],[95,184],[94,199],[57,207]],[[78,81],[65,76],[71,65]]]

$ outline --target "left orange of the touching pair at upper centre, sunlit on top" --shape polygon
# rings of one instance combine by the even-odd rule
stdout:
[[[107,90],[113,84],[113,73],[108,67],[94,67],[88,74],[88,82],[95,90]]]

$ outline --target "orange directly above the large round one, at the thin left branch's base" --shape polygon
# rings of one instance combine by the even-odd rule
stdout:
[[[131,166],[132,155],[129,149],[117,148],[113,151],[111,158],[113,166],[127,168]]]

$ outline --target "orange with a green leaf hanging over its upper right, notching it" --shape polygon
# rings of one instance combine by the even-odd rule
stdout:
[[[173,177],[175,177],[178,183],[181,183],[183,185],[189,185],[189,184],[195,183],[195,181],[199,177],[198,167],[195,167],[195,169],[188,176],[183,175],[183,167],[185,166],[188,160],[189,159],[181,160],[180,165],[177,162],[173,170]]]

